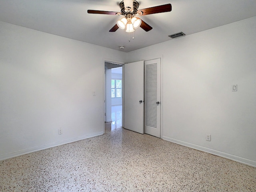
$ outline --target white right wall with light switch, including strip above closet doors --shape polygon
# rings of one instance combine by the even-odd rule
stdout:
[[[163,139],[256,166],[255,37],[253,17],[128,53],[163,57]]]

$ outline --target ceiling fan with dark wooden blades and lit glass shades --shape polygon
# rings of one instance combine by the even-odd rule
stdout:
[[[120,2],[121,12],[112,11],[100,11],[100,10],[88,10],[88,13],[92,14],[107,14],[107,15],[122,15],[122,19],[118,20],[116,25],[112,27],[109,32],[115,32],[118,28],[125,29],[126,32],[134,32],[134,29],[141,27],[146,32],[152,30],[152,27],[141,20],[138,16],[144,16],[155,13],[170,12],[172,10],[171,4],[165,4],[145,9],[139,8],[139,3],[136,0],[123,0]]]

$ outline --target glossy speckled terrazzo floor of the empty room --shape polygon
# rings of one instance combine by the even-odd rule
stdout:
[[[0,191],[256,191],[256,168],[122,128],[0,162]]]

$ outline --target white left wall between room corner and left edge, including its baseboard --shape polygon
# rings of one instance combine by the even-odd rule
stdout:
[[[0,160],[104,133],[104,60],[126,53],[4,22],[0,42]]]

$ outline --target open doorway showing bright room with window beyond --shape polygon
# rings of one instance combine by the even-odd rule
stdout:
[[[122,127],[122,64],[105,62],[105,122],[111,129]]]

